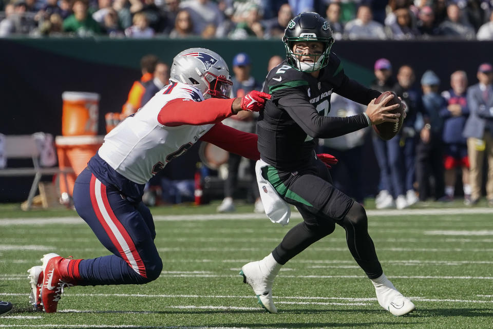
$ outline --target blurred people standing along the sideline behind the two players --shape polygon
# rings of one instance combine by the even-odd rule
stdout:
[[[232,62],[232,97],[263,89],[262,82],[254,79],[251,70],[253,65],[266,63],[253,63],[244,52],[236,54]],[[280,56],[272,56],[266,72],[281,62]],[[144,56],[141,69],[142,77],[132,85],[122,112],[107,114],[109,129],[137,111],[168,83],[169,66],[155,55]],[[370,87],[382,92],[394,91],[406,104],[404,125],[389,141],[379,138],[370,127],[319,140],[318,151],[331,153],[339,160],[331,169],[334,185],[362,204],[365,197],[377,191],[375,202],[379,209],[403,209],[419,201],[449,202],[456,198],[462,198],[465,205],[475,205],[484,190],[488,205],[493,206],[493,66],[480,64],[476,75],[469,77],[470,82],[461,70],[450,72],[449,77],[442,79],[432,70],[415,76],[409,65],[393,68],[387,59],[377,60],[373,70],[375,79]],[[328,115],[348,117],[365,109],[365,105],[333,93]],[[223,123],[255,132],[255,114],[241,112]],[[113,115],[117,121],[111,123],[108,118]],[[374,167],[365,161],[373,156],[368,154],[369,149],[374,151],[379,173],[371,170]],[[256,212],[263,212],[254,167],[254,162],[230,154],[219,212],[235,210],[234,196],[240,178],[252,182],[247,199],[255,203]],[[377,188],[363,189],[369,180],[365,175],[379,177]],[[156,186],[161,190],[165,203],[190,200],[194,196],[193,181],[174,182],[157,176],[150,185],[155,186],[154,190]],[[170,191],[173,191],[171,195]]]

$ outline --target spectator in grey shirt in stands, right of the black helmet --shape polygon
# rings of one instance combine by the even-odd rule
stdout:
[[[356,19],[346,23],[344,34],[351,40],[355,39],[385,39],[387,38],[382,24],[371,20],[370,7],[361,5]]]

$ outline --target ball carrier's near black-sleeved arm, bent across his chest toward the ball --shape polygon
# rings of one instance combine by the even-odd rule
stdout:
[[[306,95],[291,89],[278,100],[280,107],[312,138],[334,138],[368,127],[365,114],[351,117],[324,117],[308,102]]]

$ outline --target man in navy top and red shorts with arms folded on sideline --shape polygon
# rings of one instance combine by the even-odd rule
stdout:
[[[450,75],[448,91],[442,92],[447,106],[443,107],[440,115],[444,120],[442,140],[444,142],[444,168],[445,168],[445,198],[443,201],[452,201],[457,172],[456,168],[462,168],[462,186],[464,190],[464,204],[471,202],[471,186],[469,184],[469,158],[467,157],[466,139],[462,131],[469,116],[467,107],[466,89],[467,75],[464,71],[455,71]]]

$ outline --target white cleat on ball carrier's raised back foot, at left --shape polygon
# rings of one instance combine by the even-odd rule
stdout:
[[[277,274],[277,273],[276,273]],[[272,284],[275,275],[271,278],[262,273],[260,261],[250,262],[241,267],[240,275],[243,282],[250,284],[253,292],[257,295],[258,303],[269,313],[277,313],[277,308],[272,299]]]

